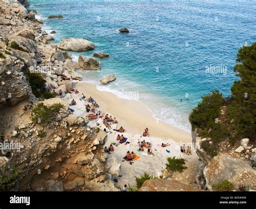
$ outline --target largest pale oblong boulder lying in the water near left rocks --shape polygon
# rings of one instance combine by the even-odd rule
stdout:
[[[85,52],[95,48],[95,44],[82,38],[67,38],[60,41],[58,48],[65,51]]]

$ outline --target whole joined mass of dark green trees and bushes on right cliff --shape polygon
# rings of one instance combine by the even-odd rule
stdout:
[[[234,81],[231,96],[223,98],[215,90],[203,96],[190,114],[192,128],[198,130],[199,136],[212,139],[213,144],[201,144],[211,156],[218,154],[218,145],[223,140],[228,139],[232,145],[242,138],[256,140],[256,43],[240,48],[237,57],[234,72],[240,80]],[[221,116],[224,105],[226,112]],[[219,117],[223,117],[221,123],[216,120]]]

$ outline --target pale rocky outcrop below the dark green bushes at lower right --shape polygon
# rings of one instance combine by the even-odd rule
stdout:
[[[241,140],[240,147],[228,149],[225,142],[220,145],[220,152],[217,156],[211,157],[201,148],[203,141],[211,141],[210,138],[201,138],[197,131],[192,131],[193,142],[196,143],[196,153],[205,164],[203,178],[207,190],[213,191],[213,185],[220,184],[224,180],[234,184],[234,190],[255,190],[256,171],[254,156],[256,149],[248,146],[247,138]],[[250,166],[250,164],[252,166]],[[254,169],[252,168],[254,167]]]

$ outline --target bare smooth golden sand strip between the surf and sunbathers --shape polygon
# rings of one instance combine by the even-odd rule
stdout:
[[[149,128],[150,137],[173,140],[179,143],[192,142],[191,133],[154,119],[153,113],[140,101],[118,98],[113,93],[98,90],[96,84],[84,81],[74,84],[73,88],[78,89],[79,96],[82,96],[82,93],[86,98],[92,96],[103,112],[116,117],[119,126],[123,126],[131,134],[142,135],[144,129]]]

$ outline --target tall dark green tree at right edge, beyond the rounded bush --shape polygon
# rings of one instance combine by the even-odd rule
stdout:
[[[236,76],[231,87],[232,100],[228,105],[228,116],[233,120],[237,138],[256,140],[256,43],[243,46],[237,54]]]

